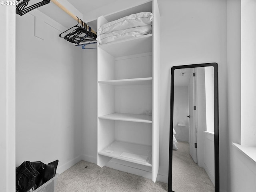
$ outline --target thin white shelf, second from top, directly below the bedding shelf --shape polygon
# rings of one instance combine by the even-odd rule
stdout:
[[[107,81],[98,81],[98,83],[108,84],[108,85],[152,85],[152,77],[146,78],[134,78],[134,79],[120,79],[120,80],[107,80]]]

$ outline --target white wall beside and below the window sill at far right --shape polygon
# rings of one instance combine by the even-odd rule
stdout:
[[[255,162],[232,146],[241,142],[241,0],[227,0],[227,34],[227,191],[255,192]]]

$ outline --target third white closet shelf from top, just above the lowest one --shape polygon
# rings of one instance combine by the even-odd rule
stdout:
[[[151,115],[142,115],[142,114],[112,113],[104,116],[99,116],[98,118],[108,119],[108,120],[152,123]]]

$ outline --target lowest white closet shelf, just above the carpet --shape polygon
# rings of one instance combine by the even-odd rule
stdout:
[[[152,166],[151,146],[114,141],[99,152],[100,155],[133,162],[141,165]]]

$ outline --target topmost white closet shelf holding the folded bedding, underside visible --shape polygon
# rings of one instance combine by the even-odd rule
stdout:
[[[152,52],[152,34],[111,42],[98,46],[116,57]]]

